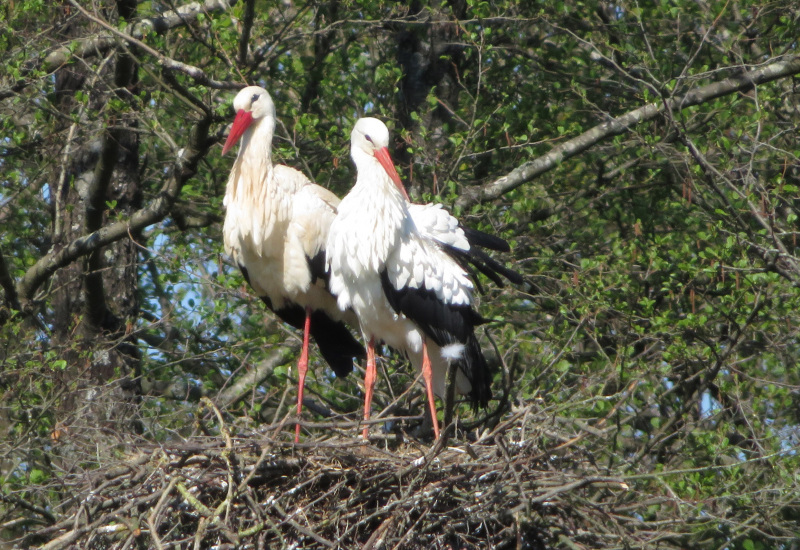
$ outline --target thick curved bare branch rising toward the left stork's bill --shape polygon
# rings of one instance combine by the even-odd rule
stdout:
[[[188,147],[179,151],[178,158],[172,167],[172,173],[168,176],[158,196],[149,205],[134,212],[128,220],[101,227],[97,231],[75,239],[64,248],[51,249],[40,258],[25,273],[17,286],[17,294],[23,307],[30,305],[29,302],[33,299],[36,289],[59,268],[98,250],[100,247],[123,239],[130,233],[141,231],[145,227],[163,220],[180,195],[183,184],[195,174],[197,163],[206,154],[209,146],[207,138],[210,125],[211,117],[205,117],[195,123]]]

